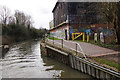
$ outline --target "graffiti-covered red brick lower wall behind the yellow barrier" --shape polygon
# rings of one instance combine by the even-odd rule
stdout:
[[[70,24],[69,25],[69,34],[70,39],[72,39],[72,33],[80,33],[84,32],[87,35],[89,32],[90,37],[94,36],[94,33],[103,32],[104,36],[107,37],[107,31],[109,32],[109,36],[114,36],[114,30],[112,29],[112,25],[109,25],[109,30],[107,30],[107,24]]]

